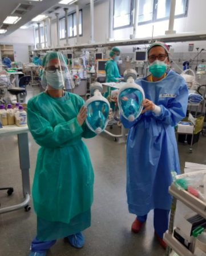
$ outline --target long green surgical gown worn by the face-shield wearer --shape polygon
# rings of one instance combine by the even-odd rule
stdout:
[[[68,224],[90,210],[93,202],[94,172],[82,137],[95,133],[76,120],[82,98],[66,94],[66,101],[45,93],[33,97],[27,104],[27,119],[41,145],[32,190],[34,210],[38,218]]]

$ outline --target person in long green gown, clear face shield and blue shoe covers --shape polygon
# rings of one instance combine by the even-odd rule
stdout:
[[[82,247],[93,202],[94,172],[82,141],[95,136],[84,122],[87,109],[81,97],[63,90],[66,82],[74,88],[63,54],[48,53],[42,65],[46,90],[27,104],[29,129],[41,146],[32,190],[37,237],[30,256],[45,256],[59,238]]]

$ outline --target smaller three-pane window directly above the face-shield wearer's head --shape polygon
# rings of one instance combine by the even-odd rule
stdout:
[[[66,38],[65,17],[60,19],[60,39]],[[79,36],[82,36],[82,10],[79,11]],[[76,13],[68,15],[68,37],[76,37]]]

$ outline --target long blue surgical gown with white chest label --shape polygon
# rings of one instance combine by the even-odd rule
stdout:
[[[145,97],[161,108],[141,114],[134,122],[121,116],[130,128],[127,140],[127,202],[130,213],[144,216],[158,208],[170,210],[171,170],[180,174],[174,126],[187,111],[188,89],[184,78],[171,71],[158,82],[136,80]]]

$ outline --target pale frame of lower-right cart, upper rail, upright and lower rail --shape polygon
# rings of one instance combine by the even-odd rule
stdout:
[[[163,240],[167,243],[167,249],[165,251],[165,256],[169,256],[171,249],[175,251],[179,256],[193,256],[184,245],[182,245],[175,237],[173,237],[174,221],[175,221],[175,211],[177,199],[184,203],[185,206],[191,208],[197,214],[201,215],[206,219],[206,203],[196,198],[195,196],[189,194],[186,190],[179,190],[174,183],[169,187],[169,194],[173,196],[171,215],[169,219],[169,229],[164,233]]]

